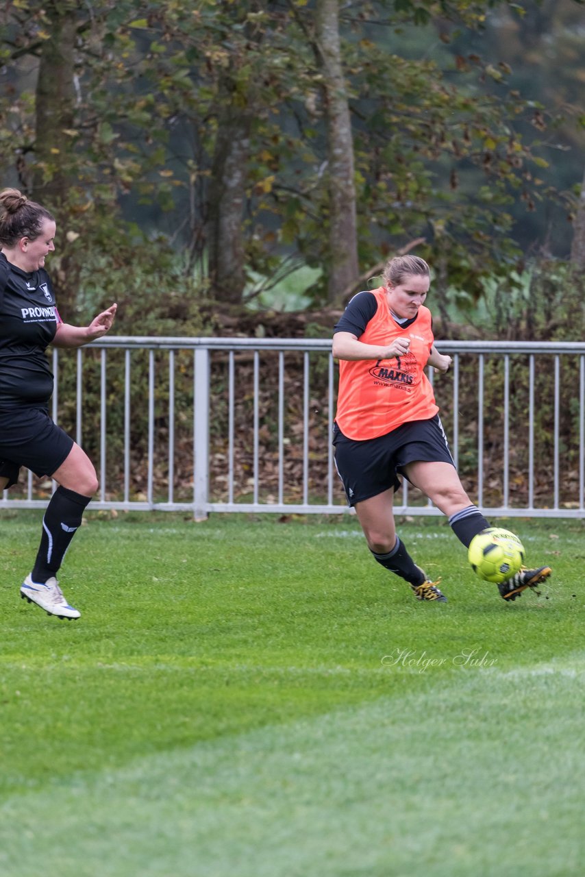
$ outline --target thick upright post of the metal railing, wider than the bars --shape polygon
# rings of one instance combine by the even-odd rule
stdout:
[[[205,521],[209,504],[210,352],[196,347],[193,386],[193,517]]]

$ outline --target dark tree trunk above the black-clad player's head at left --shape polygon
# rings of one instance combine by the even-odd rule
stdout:
[[[49,210],[65,202],[71,179],[71,139],[65,131],[74,127],[76,9],[71,0],[45,6],[49,37],[41,47],[36,90],[33,189]]]

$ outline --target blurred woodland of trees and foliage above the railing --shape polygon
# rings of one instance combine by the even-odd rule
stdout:
[[[70,319],[115,298],[124,331],[214,332],[295,277],[283,307],[340,307],[416,246],[449,332],[537,263],[579,268],[578,0],[18,0],[0,17],[3,182],[58,217]]]

